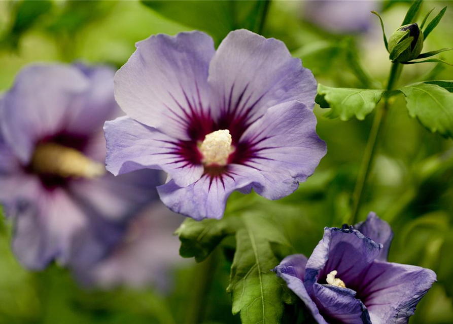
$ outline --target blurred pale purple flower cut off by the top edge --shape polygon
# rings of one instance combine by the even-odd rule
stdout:
[[[379,1],[316,0],[304,2],[303,15],[312,23],[335,34],[366,32],[372,26],[372,10]]]

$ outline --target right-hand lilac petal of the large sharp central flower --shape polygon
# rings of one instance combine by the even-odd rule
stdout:
[[[268,199],[294,192],[315,172],[327,147],[316,134],[316,117],[306,105],[290,101],[269,108],[240,138],[249,155],[244,164],[256,169],[264,182],[255,190]]]

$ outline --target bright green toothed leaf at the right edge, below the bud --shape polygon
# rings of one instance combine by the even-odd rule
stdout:
[[[453,137],[453,93],[432,82],[414,84],[399,90],[406,97],[410,116],[417,117],[433,133]]]

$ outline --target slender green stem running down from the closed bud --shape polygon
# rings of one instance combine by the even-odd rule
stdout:
[[[401,75],[402,65],[398,62],[392,63],[390,70],[389,80],[387,84],[387,90],[391,91],[394,89],[399,76]],[[384,105],[382,108],[377,108],[373,119],[373,125],[368,136],[368,142],[365,147],[363,154],[362,165],[360,167],[359,176],[357,177],[356,186],[353,193],[353,210],[350,218],[350,224],[354,225],[357,223],[359,218],[360,204],[363,198],[363,189],[371,171],[372,164],[374,163],[374,153],[376,151],[376,144],[379,137],[379,130],[385,123],[387,117],[387,111],[389,109],[389,98],[384,97]]]

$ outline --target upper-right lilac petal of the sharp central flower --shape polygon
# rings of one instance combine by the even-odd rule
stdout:
[[[234,113],[256,120],[267,108],[298,100],[313,109],[316,80],[291,56],[286,45],[249,30],[230,32],[219,45],[210,67],[212,115]]]

